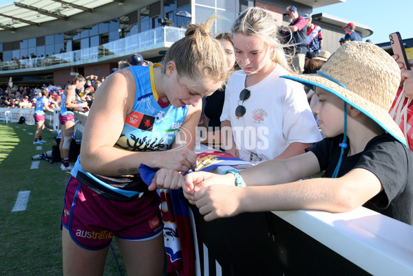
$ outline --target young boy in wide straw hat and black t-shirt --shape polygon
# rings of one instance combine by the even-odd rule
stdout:
[[[413,225],[413,152],[388,115],[400,83],[394,59],[372,43],[354,41],[316,74],[284,78],[315,87],[315,113],[327,138],[297,157],[240,173],[188,174],[184,194],[204,219],[269,210],[345,212],[363,205]],[[297,181],[324,170],[324,178]]]

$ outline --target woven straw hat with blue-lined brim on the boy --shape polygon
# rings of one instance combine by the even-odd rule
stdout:
[[[388,113],[400,84],[400,69],[380,47],[351,41],[339,47],[316,74],[282,78],[301,82],[311,89],[320,87],[337,95],[406,145],[401,129]]]

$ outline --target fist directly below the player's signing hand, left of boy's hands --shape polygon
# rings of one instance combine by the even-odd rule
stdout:
[[[149,185],[149,191],[155,189],[179,189],[184,185],[184,176],[175,170],[160,169]]]

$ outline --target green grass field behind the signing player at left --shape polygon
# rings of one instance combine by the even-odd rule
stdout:
[[[60,222],[70,174],[61,171],[60,163],[44,160],[38,170],[30,170],[31,157],[56,144],[56,133],[45,130],[48,143],[33,145],[34,131],[35,126],[0,124],[0,275],[63,275]],[[30,191],[28,206],[12,212],[19,191]],[[112,248],[126,275],[115,242]],[[105,275],[118,275],[110,251]]]

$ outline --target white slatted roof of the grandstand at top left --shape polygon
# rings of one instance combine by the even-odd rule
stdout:
[[[123,0],[19,0],[0,6],[0,30],[16,32],[28,25],[41,26],[53,20],[67,20],[81,12],[92,13],[108,3],[123,3]]]

